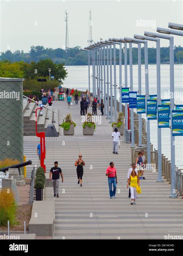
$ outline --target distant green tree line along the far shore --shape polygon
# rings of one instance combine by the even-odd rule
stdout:
[[[24,61],[25,63],[37,63],[41,60],[51,59],[53,63],[64,64],[66,66],[83,66],[88,64],[88,56],[86,51],[80,51],[80,46],[68,48],[66,50],[57,48],[44,48],[44,46],[31,46],[28,53],[24,51],[7,50],[1,53],[0,61],[8,60],[14,62]],[[142,47],[142,64],[144,64],[144,47]],[[183,47],[175,46],[174,51],[175,63],[183,63]],[[169,61],[169,47],[161,47],[160,50],[161,63]],[[129,64],[129,48],[127,48],[128,64]],[[117,64],[119,64],[119,49],[116,50]],[[132,47],[133,63],[138,63],[137,47]],[[156,63],[156,48],[148,48],[149,64]],[[122,64],[124,64],[124,54],[122,53]]]

